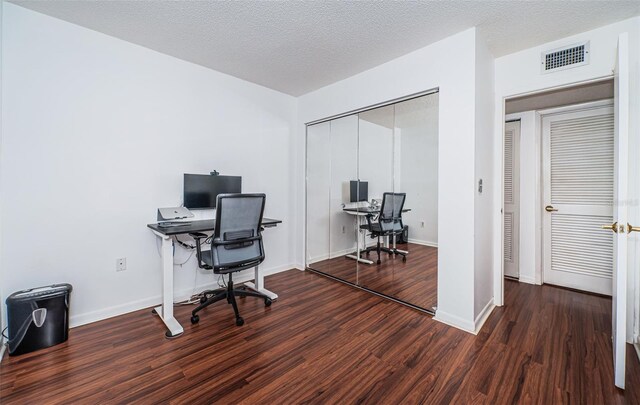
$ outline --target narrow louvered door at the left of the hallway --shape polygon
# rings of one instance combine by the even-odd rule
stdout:
[[[504,275],[518,277],[520,245],[520,121],[504,130]]]

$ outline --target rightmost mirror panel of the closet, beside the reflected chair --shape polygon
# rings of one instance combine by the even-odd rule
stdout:
[[[396,104],[396,189],[406,193],[403,213],[410,251],[394,297],[425,309],[438,290],[438,93]],[[397,260],[396,260],[397,262]]]

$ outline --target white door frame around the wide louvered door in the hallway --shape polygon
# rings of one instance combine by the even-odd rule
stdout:
[[[560,106],[560,107],[553,107],[553,108],[547,108],[544,110],[539,110],[538,111],[538,116],[536,117],[536,119],[540,120],[539,123],[539,133],[536,134],[537,136],[540,137],[541,140],[541,144],[540,144],[540,189],[538,190],[538,196],[541,198],[542,204],[540,205],[539,209],[540,209],[540,217],[541,217],[541,222],[540,222],[540,227],[541,227],[541,232],[540,232],[540,244],[542,246],[542,250],[540,252],[541,257],[540,259],[540,263],[541,265],[536,268],[536,279],[540,280],[540,284],[544,284],[545,283],[545,265],[547,263],[547,257],[545,255],[545,232],[547,231],[547,227],[550,226],[549,224],[547,224],[547,221],[545,220],[546,215],[544,212],[544,206],[546,204],[549,204],[549,202],[547,200],[545,200],[545,187],[547,186],[546,184],[546,174],[545,174],[545,159],[546,158],[550,158],[550,156],[546,156],[547,152],[549,152],[550,150],[547,150],[547,146],[545,145],[545,135],[544,135],[544,126],[542,124],[543,120],[545,117],[550,117],[553,115],[561,115],[561,114],[566,114],[566,113],[576,113],[576,112],[583,112],[583,111],[589,111],[589,110],[595,110],[595,109],[600,109],[600,108],[606,108],[606,107],[611,107],[612,109],[614,108],[614,100],[613,99],[605,99],[605,100],[598,100],[598,101],[590,101],[587,103],[580,103],[580,104],[571,104],[571,105],[565,105],[565,106]],[[615,111],[614,111],[615,113]],[[549,200],[550,201],[550,200]]]

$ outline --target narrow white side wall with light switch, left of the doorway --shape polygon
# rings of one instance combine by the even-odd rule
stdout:
[[[483,38],[475,42],[475,222],[474,328],[479,330],[493,308],[493,240],[490,232],[495,183],[493,178],[494,58]],[[482,192],[479,182],[482,180]]]

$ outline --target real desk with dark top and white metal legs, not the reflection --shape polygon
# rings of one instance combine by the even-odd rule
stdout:
[[[264,228],[272,228],[281,224],[279,219],[262,218],[262,226]],[[160,319],[167,326],[168,331],[165,333],[167,337],[176,337],[184,329],[182,325],[173,316],[173,242],[171,237],[174,235],[183,235],[190,232],[210,232],[216,227],[215,219],[190,221],[184,226],[161,227],[158,224],[148,224],[157,237],[162,240],[162,248],[160,256],[162,258],[162,305],[154,308],[154,312],[160,316]],[[252,290],[259,291],[267,295],[272,300],[278,298],[278,295],[269,290],[264,289],[264,276],[260,274],[258,266],[255,267],[255,279],[253,283],[244,283]]]

